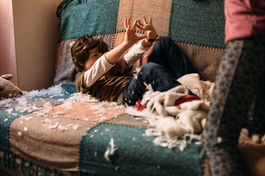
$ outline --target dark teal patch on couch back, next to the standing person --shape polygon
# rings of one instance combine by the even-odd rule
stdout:
[[[215,48],[224,44],[223,0],[172,0],[169,37]]]

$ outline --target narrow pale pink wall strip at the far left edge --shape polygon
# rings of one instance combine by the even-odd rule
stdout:
[[[0,0],[0,76],[12,74],[18,86],[12,0]]]

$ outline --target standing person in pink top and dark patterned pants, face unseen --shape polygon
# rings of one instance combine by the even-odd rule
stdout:
[[[246,175],[238,137],[265,134],[265,0],[225,0],[226,51],[202,134],[212,176]],[[248,112],[255,103],[253,117]]]

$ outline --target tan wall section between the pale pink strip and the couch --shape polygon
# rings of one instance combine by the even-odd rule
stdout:
[[[22,90],[51,87],[54,78],[62,0],[12,0],[18,87]]]

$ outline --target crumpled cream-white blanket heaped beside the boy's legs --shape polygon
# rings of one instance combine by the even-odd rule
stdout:
[[[164,132],[167,138],[181,138],[187,133],[202,132],[206,123],[213,83],[200,81],[198,74],[185,75],[178,81],[190,88],[202,100],[182,103],[179,109],[174,104],[176,99],[188,94],[185,86],[177,86],[165,92],[154,92],[150,89],[150,85],[141,102],[141,104],[148,102],[146,109],[138,111],[130,107],[126,112],[145,117],[150,125]]]

